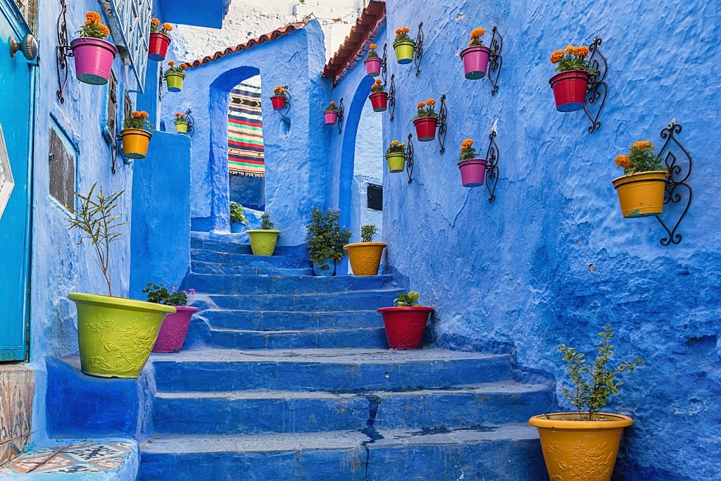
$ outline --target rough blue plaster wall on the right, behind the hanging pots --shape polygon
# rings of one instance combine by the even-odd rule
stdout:
[[[446,94],[446,153],[415,139],[412,184],[384,174],[384,237],[399,277],[435,308],[440,345],[473,349],[515,345],[518,363],[565,379],[560,343],[590,352],[601,326],[616,332],[616,360],[646,364],[623,376],[622,396],[606,410],[634,418],[616,469],[627,480],[718,479],[721,418],[721,286],[717,265],[721,155],[713,132],[720,94],[713,74],[719,22],[715,2],[632,0],[530,3],[503,0],[397,1],[387,30],[423,21],[419,76],[389,61],[397,86],[396,120],[384,118],[384,146],[412,130],[415,104]],[[500,89],[464,79],[459,51],[474,27],[485,40],[503,35]],[[642,27],[641,27],[642,25]],[[587,133],[583,112],[554,107],[550,54],[601,37],[609,61],[609,97],[601,129]],[[363,84],[358,64],[337,87],[350,97]],[[365,92],[365,89],[363,89]],[[360,107],[358,107],[360,110]],[[617,154],[637,140],[663,145],[671,118],[694,159],[694,202],[678,228],[681,244],[659,243],[655,219],[622,219],[611,180]],[[357,118],[348,112],[346,132]],[[485,152],[498,120],[500,181],[494,203],[485,188],[461,187],[457,151],[474,138]],[[344,203],[340,174],[347,139],[335,138],[329,198]],[[340,174],[340,175],[339,175]],[[339,187],[340,186],[340,187]],[[674,224],[682,207],[667,207]],[[559,404],[569,403],[557,387]]]

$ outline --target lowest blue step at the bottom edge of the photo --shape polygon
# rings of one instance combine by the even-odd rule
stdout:
[[[261,414],[261,413],[258,413]],[[244,436],[157,436],[140,480],[547,480],[535,428],[375,429]]]

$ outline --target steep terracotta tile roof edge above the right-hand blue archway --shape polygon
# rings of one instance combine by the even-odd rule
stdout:
[[[361,16],[355,20],[348,37],[337,52],[326,64],[322,76],[333,81],[335,87],[340,79],[363,59],[366,48],[373,43],[386,20],[386,1],[371,0],[363,9]]]

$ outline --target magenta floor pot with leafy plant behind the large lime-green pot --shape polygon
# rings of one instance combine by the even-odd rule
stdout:
[[[187,329],[190,327],[190,318],[197,307],[187,306],[187,296],[193,296],[195,289],[178,291],[174,286],[169,289],[163,287],[163,283],[154,284],[149,282],[143,289],[148,294],[148,302],[174,306],[175,314],[168,314],[158,332],[158,339],[153,346],[154,353],[177,353],[185,342]]]

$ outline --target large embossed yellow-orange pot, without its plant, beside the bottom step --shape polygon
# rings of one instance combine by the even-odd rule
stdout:
[[[546,469],[552,481],[609,481],[624,428],[633,420],[596,412],[579,421],[578,412],[542,414],[528,420],[539,431]]]

